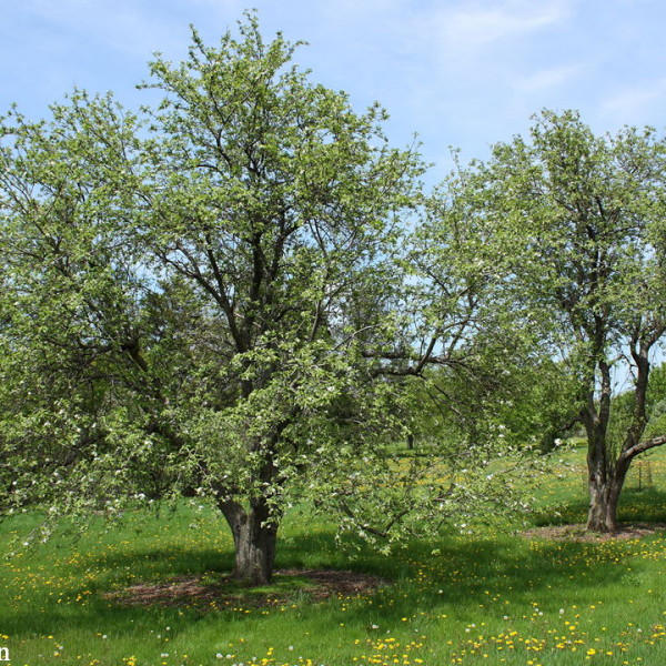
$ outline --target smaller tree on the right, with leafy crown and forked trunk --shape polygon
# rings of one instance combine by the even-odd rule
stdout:
[[[613,531],[645,438],[650,362],[666,332],[666,142],[649,128],[597,137],[578,113],[544,111],[529,141],[495,145],[476,171],[484,220],[511,299],[544,332],[573,382],[588,441],[588,527]],[[612,436],[615,377],[630,416]]]

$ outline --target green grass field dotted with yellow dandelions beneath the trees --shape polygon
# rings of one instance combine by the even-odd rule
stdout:
[[[573,466],[544,480],[534,524],[584,519],[583,452],[565,457]],[[633,473],[620,519],[666,522],[666,455],[653,456],[649,472],[640,490]],[[36,519],[0,525],[2,551]],[[665,532],[591,543],[486,527],[352,557],[330,525],[294,513],[278,568],[350,569],[391,584],[322,599],[278,576],[261,603],[122,603],[137,584],[214,584],[231,563],[222,521],[193,507],[50,542],[0,561],[0,647],[13,666],[666,664]],[[278,601],[264,603],[271,595]]]

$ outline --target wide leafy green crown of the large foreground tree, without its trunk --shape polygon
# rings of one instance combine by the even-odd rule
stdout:
[[[3,513],[185,494],[261,531],[305,496],[390,536],[473,487],[491,500],[490,455],[445,493],[483,437],[392,462],[427,365],[491,373],[476,232],[414,224],[417,152],[379,105],[313,83],[297,47],[249,13],[151,63],[157,108],[75,91],[2,120]]]

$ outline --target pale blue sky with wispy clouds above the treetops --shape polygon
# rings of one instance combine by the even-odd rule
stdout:
[[[180,60],[189,23],[214,43],[249,7],[310,43],[296,61],[316,81],[382,102],[395,144],[417,132],[435,180],[450,145],[485,158],[544,107],[598,132],[664,127],[663,0],[0,0],[0,112],[42,117],[74,85],[135,105],[154,51]]]

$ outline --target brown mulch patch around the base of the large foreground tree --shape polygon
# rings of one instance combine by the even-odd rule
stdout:
[[[196,606],[212,609],[243,610],[270,606],[284,606],[306,598],[309,602],[330,597],[350,598],[372,594],[389,582],[370,574],[334,569],[281,569],[276,581],[299,579],[293,589],[283,591],[280,585],[271,592],[239,589],[230,575],[178,576],[160,583],[140,583],[104,597],[123,606]],[[241,607],[239,607],[241,606]]]

